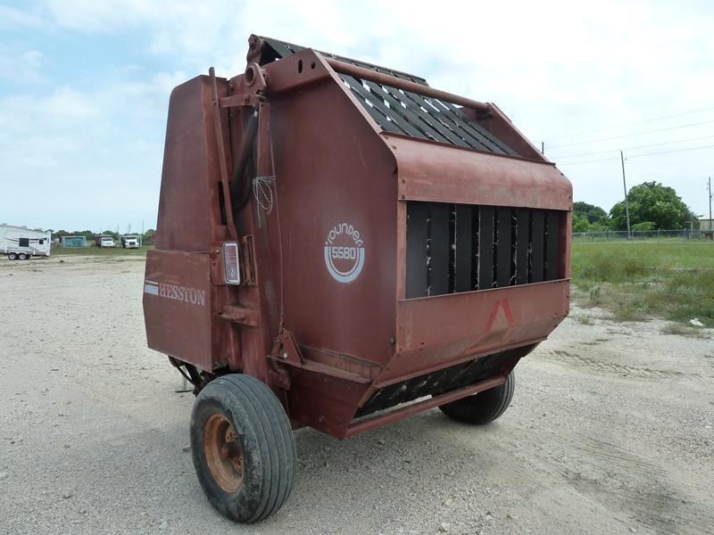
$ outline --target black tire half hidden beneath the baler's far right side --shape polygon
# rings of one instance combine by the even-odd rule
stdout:
[[[478,392],[467,398],[457,399],[439,408],[444,415],[463,424],[489,424],[501,416],[511,405],[515,387],[516,376],[511,372],[502,385]]]

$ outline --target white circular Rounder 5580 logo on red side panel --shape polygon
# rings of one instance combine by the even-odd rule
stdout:
[[[364,243],[353,225],[340,223],[328,232],[325,266],[338,283],[351,283],[360,276],[364,266]]]

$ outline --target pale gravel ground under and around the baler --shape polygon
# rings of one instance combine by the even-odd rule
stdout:
[[[714,342],[567,319],[511,408],[295,432],[278,514],[241,526],[195,479],[190,393],[145,347],[140,259],[0,261],[0,532],[714,533]],[[581,317],[582,319],[582,317]]]

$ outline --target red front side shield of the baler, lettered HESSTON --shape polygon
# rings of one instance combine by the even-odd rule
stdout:
[[[217,86],[219,95],[224,95],[225,80],[220,78]],[[150,270],[154,273],[158,269],[157,276],[169,278],[172,284],[189,287],[192,281],[198,281],[208,292],[204,282],[219,271],[215,264],[220,257],[221,243],[230,239],[230,233],[225,217],[221,217],[215,112],[209,77],[188,80],[171,93],[156,251],[150,251],[147,258],[149,280],[153,276],[149,275]],[[220,120],[224,127],[224,145],[228,146],[228,111],[220,111]],[[228,167],[230,165],[228,157]],[[202,254],[176,256],[179,251]],[[195,263],[192,260],[195,258],[205,260]],[[184,262],[192,269],[183,268]],[[236,304],[237,289],[224,284],[220,277],[213,276],[213,279],[206,297],[206,310],[207,314],[212,310],[216,315],[213,317],[217,318],[224,307]],[[145,305],[146,299],[145,296]],[[205,317],[196,317],[195,309],[158,306],[160,303],[162,301],[151,300],[150,306],[145,306],[149,347],[205,370],[242,366],[235,325],[218,319],[206,324]],[[194,320],[197,323],[192,323]]]

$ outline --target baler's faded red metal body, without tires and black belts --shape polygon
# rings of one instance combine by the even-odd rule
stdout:
[[[365,95],[345,85],[326,55],[279,48],[252,37],[245,73],[194,78],[171,96],[157,247],[146,276],[204,290],[205,309],[145,294],[149,346],[206,374],[252,374],[295,422],[341,438],[430,407],[397,407],[351,426],[355,414],[377,406],[379,391],[406,385],[391,407],[431,393],[456,399],[473,388],[462,382],[503,373],[503,366],[488,366],[494,355],[510,370],[568,312],[569,181],[493,104],[471,116],[458,111],[485,136],[483,147],[455,143],[452,136],[481,138],[447,128],[454,111],[438,111],[444,122],[428,125],[423,121],[436,111],[404,113],[414,128],[422,121],[424,136],[384,132],[361,102]],[[361,73],[341,61],[337,69]],[[372,78],[382,73],[391,84],[431,91],[423,78],[349,62],[371,69]],[[383,104],[399,98],[389,95]],[[254,139],[246,135],[249,124],[257,125]],[[498,144],[510,153],[494,153]],[[236,173],[238,161],[245,169]],[[261,204],[258,191],[270,191]],[[406,299],[419,295],[407,280],[411,202],[446,203],[425,219],[434,232],[424,229],[429,252],[447,260],[430,268],[444,295]],[[516,227],[515,235],[492,234],[482,244],[473,225],[455,224],[449,204],[492,210],[496,230],[508,227],[509,217],[540,213],[535,235],[542,239],[525,248]],[[225,284],[222,273],[222,244],[234,239],[228,215],[240,247],[239,286]],[[470,236],[472,250],[450,251],[452,235],[461,243]],[[481,271],[486,282],[489,266],[462,268],[469,262],[458,259],[493,248],[494,240],[503,250],[494,250],[492,280],[474,284]],[[527,268],[518,261],[503,268],[518,258],[511,250],[528,251]],[[503,287],[483,289],[494,284]],[[415,379],[428,374],[450,378],[456,391],[433,382],[418,388]]]

